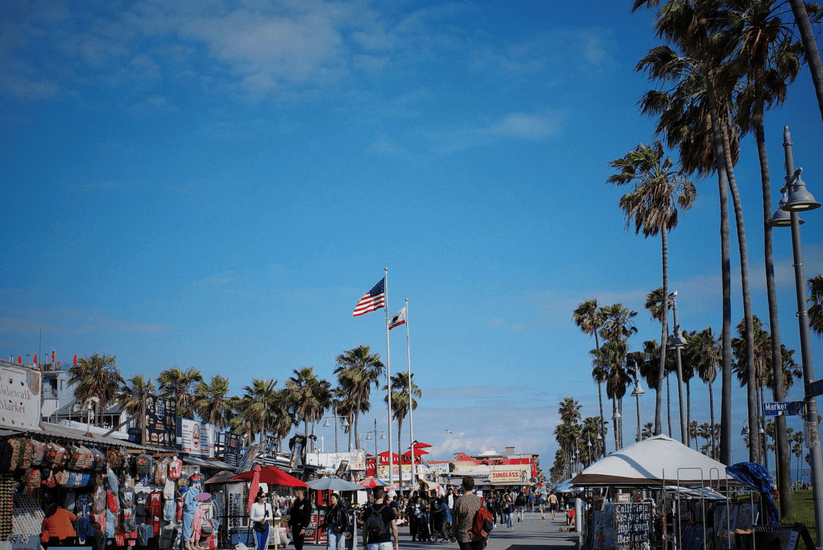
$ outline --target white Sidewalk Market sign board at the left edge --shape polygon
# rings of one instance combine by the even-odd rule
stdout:
[[[0,368],[0,425],[40,429],[40,372],[26,367]]]

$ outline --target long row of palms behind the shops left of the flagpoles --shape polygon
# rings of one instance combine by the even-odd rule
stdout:
[[[348,349],[335,358],[337,386],[323,380],[314,367],[295,369],[293,376],[283,386],[277,386],[274,378],[252,378],[243,386],[243,393],[229,395],[230,381],[220,374],[209,381],[203,379],[194,367],[183,370],[171,367],[156,377],[158,386],[145,374],[124,379],[117,367],[114,355],[93,354],[78,360],[69,369],[69,383],[74,385],[75,398],[83,402],[97,396],[102,409],[110,404],[123,404],[129,414],[142,410],[146,395],[159,394],[173,399],[177,415],[182,418],[200,418],[212,423],[217,429],[229,429],[246,437],[251,443],[256,437],[282,440],[302,422],[304,434],[314,433],[314,424],[323,419],[328,411],[339,418],[346,418],[348,448],[360,449],[358,424],[360,414],[369,412],[372,386],[379,388],[384,364],[380,354],[372,354],[367,345]],[[398,441],[402,421],[409,410],[417,408],[422,392],[406,372],[398,372],[391,379],[392,414],[398,421]],[[383,386],[388,393],[388,387]],[[410,394],[411,390],[411,394]],[[388,401],[388,395],[385,398]]]

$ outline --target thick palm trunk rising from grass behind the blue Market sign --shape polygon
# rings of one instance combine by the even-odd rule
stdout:
[[[762,119],[762,113],[761,119]],[[760,183],[763,187],[763,251],[766,270],[766,296],[769,298],[769,328],[772,344],[772,370],[774,371],[774,387],[772,395],[775,401],[783,401],[783,358],[780,354],[780,323],[777,309],[777,291],[774,286],[774,255],[772,253],[772,227],[769,224],[772,215],[771,206],[771,178],[769,174],[769,159],[766,156],[766,139],[763,124],[755,128],[757,141],[757,155],[760,157]],[[779,366],[778,366],[779,365]],[[780,492],[780,516],[788,517],[794,510],[792,495],[792,458],[789,455],[788,436],[786,433],[786,417],[779,415],[775,418],[777,441],[774,454],[777,456],[775,469],[778,470],[778,491]]]

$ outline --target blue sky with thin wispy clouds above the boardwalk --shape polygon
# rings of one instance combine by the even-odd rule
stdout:
[[[604,183],[608,160],[653,139],[636,107],[649,85],[633,69],[658,41],[653,14],[629,7],[5,5],[0,356],[37,353],[42,328],[44,353],[115,354],[126,377],[193,366],[233,391],[309,365],[331,378],[333,358],[358,344],[385,358],[384,312],[351,312],[388,267],[389,313],[410,304],[416,439],[437,458],[514,444],[551,465],[557,403],[574,396],[597,414],[593,341],[574,307],[638,311],[633,349],[660,337],[643,310],[661,284],[659,238],[627,232]],[[820,199],[807,67],[766,118],[775,204],[783,125]],[[746,138],[736,176],[765,321],[759,170]],[[683,328],[719,332],[717,179],[696,185],[669,238],[670,284]],[[820,212],[803,216],[807,277],[823,270]],[[797,349],[789,237],[775,233],[774,256],[782,336]],[[736,324],[735,243],[732,221]],[[393,372],[407,367],[403,332],[392,331]],[[742,426],[745,391],[734,401]],[[708,421],[697,383],[692,409]],[[652,392],[641,414],[652,419]],[[634,433],[626,420],[625,441]]]

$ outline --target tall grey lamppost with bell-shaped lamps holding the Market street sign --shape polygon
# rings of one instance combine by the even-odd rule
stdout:
[[[817,428],[817,400],[811,395],[811,382],[815,372],[811,363],[811,342],[809,339],[809,312],[806,306],[806,276],[803,274],[803,252],[800,241],[800,216],[798,212],[815,210],[821,204],[806,189],[800,178],[802,169],[794,169],[792,136],[788,126],[783,127],[783,149],[786,154],[786,185],[780,190],[783,199],[779,209],[772,216],[771,224],[776,227],[792,228],[792,252],[794,257],[794,289],[797,294],[797,324],[800,328],[800,357],[803,363],[803,400],[806,404],[808,425],[809,458],[811,459],[811,494],[815,506],[816,525],[823,525],[823,461],[821,461],[820,432]],[[788,220],[786,213],[788,212]],[[788,222],[788,223],[787,223]],[[818,538],[817,548],[823,549],[823,538]]]

